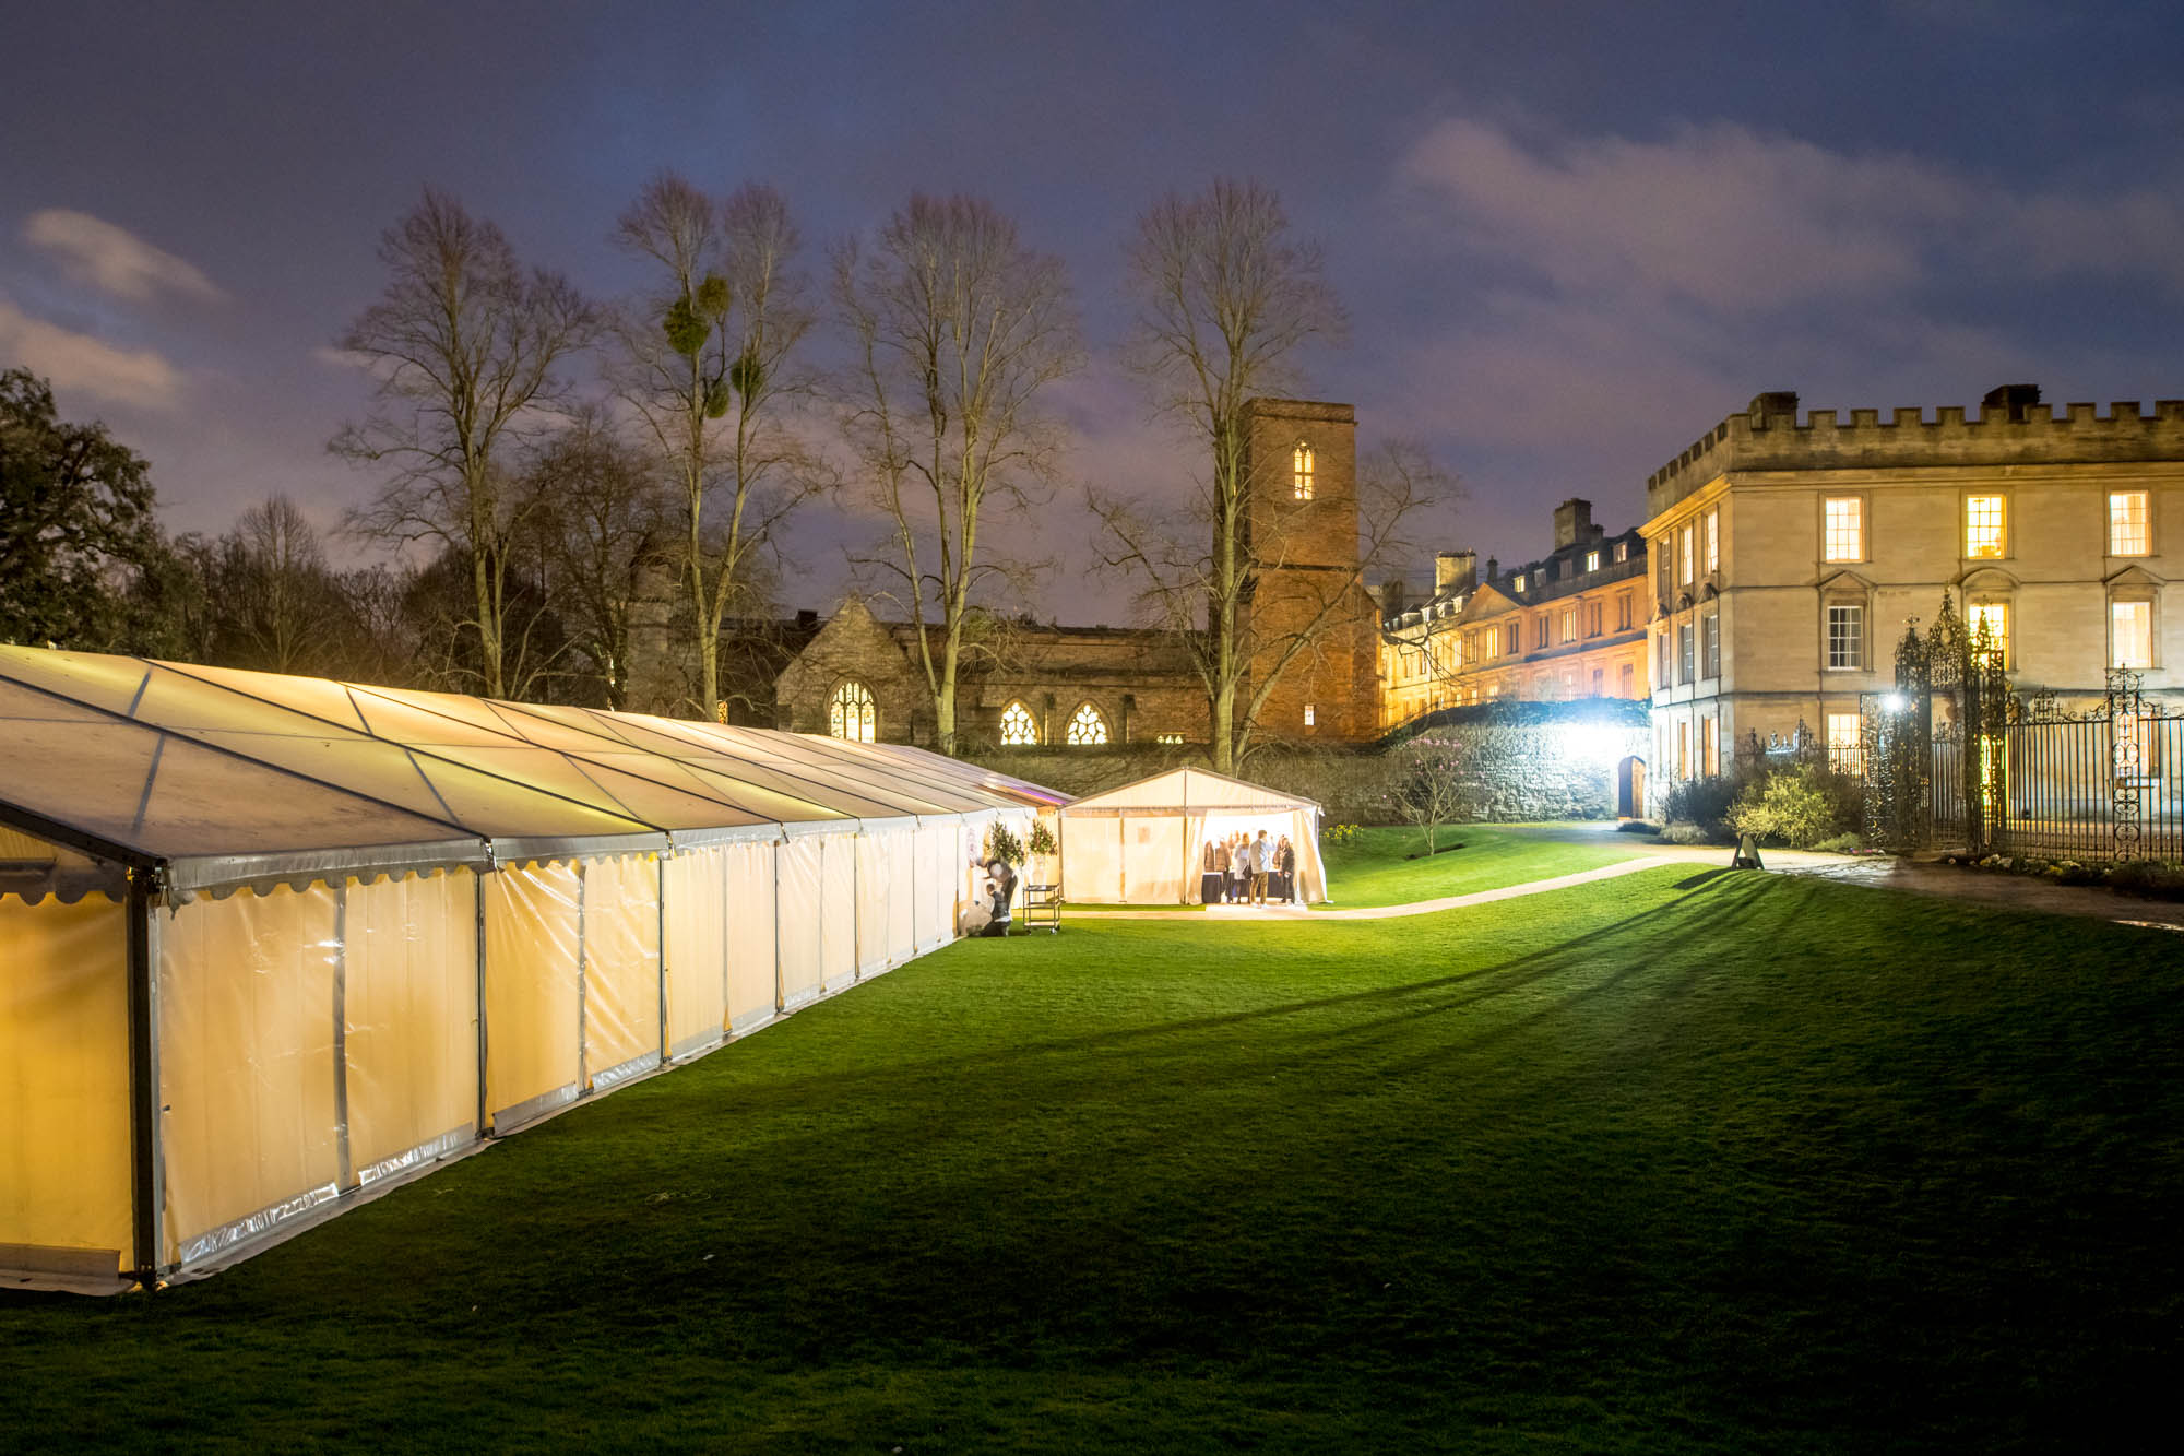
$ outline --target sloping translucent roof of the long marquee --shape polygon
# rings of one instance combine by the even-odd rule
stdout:
[[[470,861],[487,842],[594,853],[1061,802],[915,748],[146,658],[0,645],[0,822],[238,874],[266,855]]]

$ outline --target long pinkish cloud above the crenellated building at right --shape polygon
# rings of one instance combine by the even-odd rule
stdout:
[[[1952,273],[2184,284],[2184,208],[2158,188],[2009,192],[1909,155],[1850,155],[1734,122],[1662,140],[1548,138],[1457,118],[1398,181],[1461,245],[1564,291],[1723,315],[1902,295]]]

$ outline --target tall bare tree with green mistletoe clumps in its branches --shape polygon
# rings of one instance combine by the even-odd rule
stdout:
[[[747,186],[714,203],[673,173],[622,214],[616,243],[653,262],[622,310],[616,387],[681,494],[681,562],[697,708],[721,706],[721,630],[747,614],[760,557],[821,474],[786,420],[791,354],[810,332],[788,203]]]

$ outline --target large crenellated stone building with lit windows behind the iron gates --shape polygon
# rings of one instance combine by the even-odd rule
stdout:
[[[1944,597],[2014,684],[2099,695],[2108,667],[2184,686],[2184,400],[1800,418],[1762,394],[1647,481],[1653,787],[1800,724],[1848,765],[1861,693],[1894,684]]]

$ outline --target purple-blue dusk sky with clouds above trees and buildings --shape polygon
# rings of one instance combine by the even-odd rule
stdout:
[[[2184,394],[2173,4],[17,4],[0,39],[0,365],[153,461],[173,529],[376,479],[330,348],[430,184],[612,295],[660,168],[780,186],[826,247],[968,190],[1061,254],[1092,365],[1075,481],[1184,490],[1116,365],[1158,192],[1256,177],[1326,245],[1352,337],[1308,361],[1361,448],[1461,472],[1428,544],[1505,562],[1760,389],[1808,407]],[[826,348],[821,343],[821,348]],[[1018,536],[1085,566],[1077,492]],[[830,610],[854,498],[793,529]],[[352,547],[339,547],[349,551]],[[1044,617],[1120,621],[1057,577]]]

